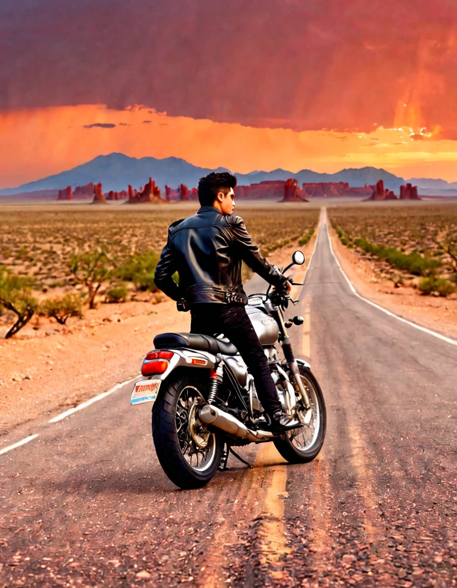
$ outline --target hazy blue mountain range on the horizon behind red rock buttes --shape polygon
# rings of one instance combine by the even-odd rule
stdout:
[[[229,171],[226,168],[207,169],[199,168],[188,163],[184,159],[168,157],[156,159],[154,157],[143,157],[136,159],[123,155],[123,153],[110,153],[110,155],[99,155],[95,159],[76,166],[68,171],[57,173],[47,178],[34,182],[28,182],[17,188],[6,188],[0,190],[0,196],[11,196],[24,192],[59,190],[66,186],[82,186],[89,182],[102,182],[103,191],[120,191],[126,189],[130,184],[134,188],[144,185],[151,177],[156,185],[164,188],[165,184],[175,188],[180,183],[186,184],[189,188],[196,186],[201,176],[212,171]],[[266,180],[296,178],[298,185],[303,182],[348,182],[350,186],[357,188],[365,183],[375,184],[379,179],[389,190],[398,193],[399,187],[406,182],[418,186],[422,195],[457,195],[457,182],[448,183],[441,179],[412,178],[405,180],[399,178],[385,169],[377,168],[348,168],[336,173],[318,173],[310,169],[302,169],[299,172],[290,172],[285,169],[274,169],[271,172],[255,171],[250,173],[236,173],[238,185],[250,185],[251,183],[263,182]]]

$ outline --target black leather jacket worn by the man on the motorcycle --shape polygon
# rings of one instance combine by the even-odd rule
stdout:
[[[201,206],[194,216],[174,222],[168,232],[154,281],[173,300],[247,303],[241,283],[241,260],[268,283],[280,287],[287,278],[264,259],[239,216]],[[179,286],[172,279],[179,273]]]

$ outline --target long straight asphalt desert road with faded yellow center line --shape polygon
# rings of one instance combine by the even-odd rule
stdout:
[[[0,586],[455,586],[457,346],[355,295],[325,214],[292,313],[327,403],[314,462],[250,445],[253,469],[178,490],[131,384],[26,423],[0,455]]]

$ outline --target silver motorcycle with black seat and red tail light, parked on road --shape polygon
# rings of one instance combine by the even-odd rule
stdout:
[[[293,265],[305,256],[295,251]],[[326,413],[321,388],[310,364],[295,359],[287,335],[294,316],[284,321],[288,303],[297,303],[283,290],[248,297],[246,312],[266,353],[284,411],[301,427],[282,435],[268,430],[269,420],[258,399],[253,376],[231,345],[220,335],[162,333],[154,338],[135,382],[131,405],[153,402],[152,436],[160,465],[182,489],[206,485],[217,470],[227,467],[229,453],[245,460],[233,447],[273,442],[287,462],[306,463],[321,450]],[[280,344],[284,359],[278,353]]]

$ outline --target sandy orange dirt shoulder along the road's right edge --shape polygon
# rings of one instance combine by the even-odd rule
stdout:
[[[359,295],[404,319],[457,339],[457,299],[421,295],[408,286],[377,278],[374,263],[342,245],[329,225],[332,248]]]

